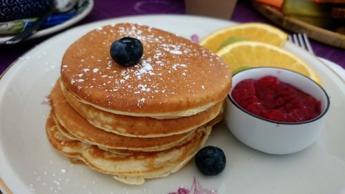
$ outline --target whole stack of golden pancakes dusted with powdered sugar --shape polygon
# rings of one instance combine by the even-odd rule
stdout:
[[[119,66],[110,45],[141,41],[139,64]],[[169,32],[131,23],[92,30],[66,50],[50,94],[52,146],[128,184],[186,164],[221,119],[231,87],[219,57]]]

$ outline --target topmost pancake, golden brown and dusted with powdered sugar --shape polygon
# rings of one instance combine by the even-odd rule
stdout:
[[[144,55],[124,67],[110,57],[122,37],[143,43]],[[61,80],[83,104],[117,115],[176,118],[195,115],[223,100],[228,66],[210,50],[169,32],[131,23],[92,30],[66,50]]]

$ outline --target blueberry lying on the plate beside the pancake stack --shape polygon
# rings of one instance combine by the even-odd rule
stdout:
[[[204,175],[214,176],[224,170],[226,157],[220,148],[216,146],[206,146],[195,155],[195,164]]]

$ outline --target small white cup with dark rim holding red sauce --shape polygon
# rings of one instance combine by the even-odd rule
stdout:
[[[315,81],[297,72],[282,68],[250,68],[233,75],[233,88],[244,79],[259,79],[267,75],[291,84],[321,101],[321,113],[306,122],[274,122],[249,113],[228,95],[226,125],[240,142],[270,154],[289,154],[307,148],[319,136],[326,119],[330,101],[326,91]]]

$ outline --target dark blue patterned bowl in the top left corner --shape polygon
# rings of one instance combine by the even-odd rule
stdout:
[[[54,0],[0,0],[0,21],[37,17],[52,6]]]

